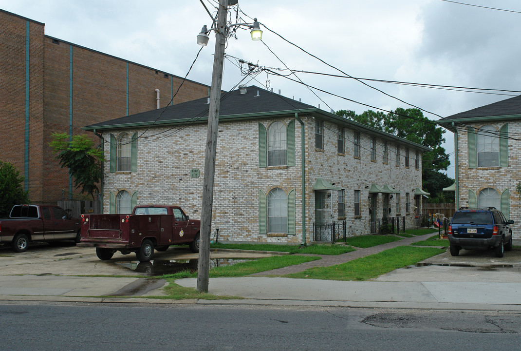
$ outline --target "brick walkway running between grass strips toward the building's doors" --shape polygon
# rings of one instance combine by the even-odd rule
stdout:
[[[355,251],[342,253],[342,255],[313,255],[319,256],[321,260],[315,260],[311,262],[304,262],[301,264],[290,265],[288,267],[278,268],[271,271],[258,272],[251,274],[250,276],[266,276],[266,275],[285,275],[290,273],[299,273],[306,269],[313,267],[329,267],[330,265],[337,265],[345,262],[355,260],[357,258],[374,255],[375,253],[382,252],[383,250],[392,249],[398,246],[407,246],[417,241],[427,240],[434,233],[429,233],[420,236],[413,236],[411,238],[404,238],[402,240],[391,241],[382,245],[377,245],[368,248],[357,248]],[[296,255],[299,255],[298,253]]]

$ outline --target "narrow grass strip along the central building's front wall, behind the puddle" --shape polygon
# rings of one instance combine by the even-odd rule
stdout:
[[[277,251],[289,253],[311,253],[314,255],[341,255],[355,249],[347,245],[274,245],[274,244],[210,244],[213,249],[234,249],[234,250],[253,250],[253,251]]]

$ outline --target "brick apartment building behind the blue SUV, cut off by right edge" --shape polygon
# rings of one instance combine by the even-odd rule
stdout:
[[[438,122],[454,132],[456,208],[493,206],[507,220],[521,221],[521,95]]]

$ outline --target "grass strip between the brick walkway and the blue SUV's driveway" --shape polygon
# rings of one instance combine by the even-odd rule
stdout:
[[[399,246],[350,262],[331,267],[315,267],[300,273],[288,274],[286,277],[362,281],[376,278],[379,275],[406,267],[443,252],[445,252],[444,249],[433,247]]]

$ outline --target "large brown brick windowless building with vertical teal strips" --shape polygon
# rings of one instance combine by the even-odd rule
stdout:
[[[55,203],[73,189],[48,146],[53,132],[208,95],[209,87],[45,35],[44,23],[0,9],[0,160],[25,177],[33,202]],[[92,134],[93,140],[96,139]]]

